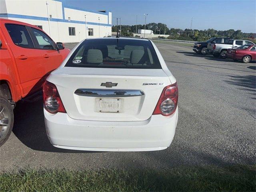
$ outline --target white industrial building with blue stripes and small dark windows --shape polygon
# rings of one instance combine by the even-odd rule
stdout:
[[[65,0],[0,0],[0,17],[36,25],[55,42],[111,36],[111,12],[73,7]]]

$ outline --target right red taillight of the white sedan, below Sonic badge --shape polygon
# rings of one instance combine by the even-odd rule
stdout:
[[[178,105],[178,86],[177,82],[168,85],[162,91],[162,94],[156,104],[153,115],[162,114],[169,116],[173,114]]]

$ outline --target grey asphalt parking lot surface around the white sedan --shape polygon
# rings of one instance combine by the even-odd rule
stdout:
[[[66,44],[72,48],[75,44]],[[154,152],[84,152],[54,148],[42,99],[19,102],[13,133],[0,147],[0,170],[156,168],[256,163],[256,64],[195,54],[182,44],[156,44],[178,81],[179,119],[171,146]]]

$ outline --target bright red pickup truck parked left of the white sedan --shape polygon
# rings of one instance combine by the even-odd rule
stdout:
[[[36,26],[0,19],[0,146],[12,132],[15,103],[40,91],[69,52]]]

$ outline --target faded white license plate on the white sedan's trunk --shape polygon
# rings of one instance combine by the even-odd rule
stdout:
[[[120,98],[96,98],[95,112],[120,113],[123,111],[124,100]]]

